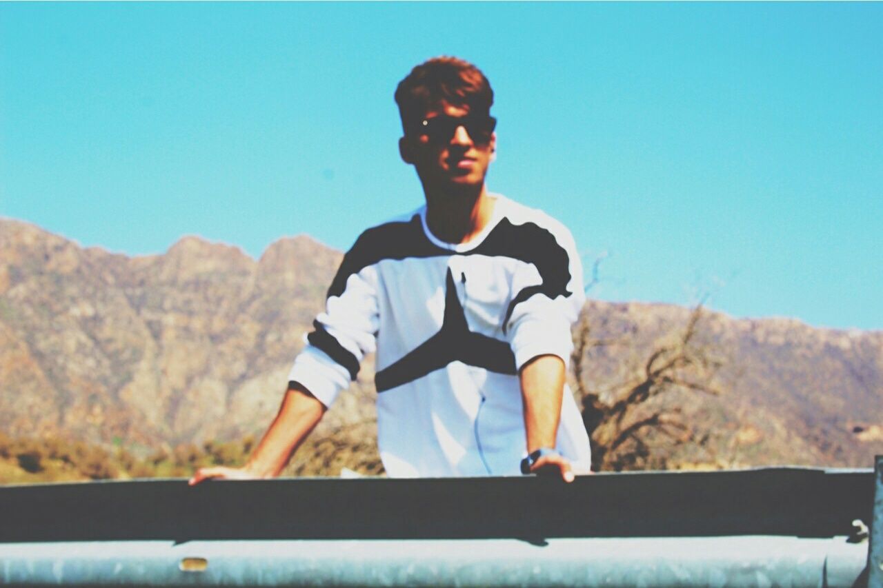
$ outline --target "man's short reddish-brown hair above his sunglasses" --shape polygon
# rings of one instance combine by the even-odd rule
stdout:
[[[396,88],[396,104],[405,129],[441,102],[489,115],[494,90],[479,68],[457,57],[426,60],[412,69]]]

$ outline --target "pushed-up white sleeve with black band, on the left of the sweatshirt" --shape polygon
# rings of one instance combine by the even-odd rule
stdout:
[[[313,321],[306,348],[291,366],[289,381],[302,384],[325,406],[355,381],[359,364],[375,349],[378,328],[375,268],[351,272],[353,249],[343,258],[328,290],[325,312]]]

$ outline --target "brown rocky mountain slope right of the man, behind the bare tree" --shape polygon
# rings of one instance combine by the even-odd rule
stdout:
[[[674,305],[589,302],[584,316],[598,336],[625,342],[589,354],[591,387],[627,381],[690,314]],[[883,452],[883,332],[710,312],[698,324],[700,344],[723,362],[721,395],[675,391],[662,399],[709,435],[711,451],[688,451],[683,461],[871,467]]]

